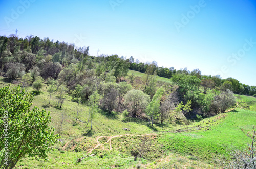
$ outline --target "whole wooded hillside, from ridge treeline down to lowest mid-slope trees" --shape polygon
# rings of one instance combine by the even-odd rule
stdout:
[[[155,61],[134,62],[132,56],[126,59],[88,54],[89,47],[77,48],[49,38],[0,37],[1,74],[10,79],[20,77],[23,87],[32,85],[37,92],[45,82],[49,85],[49,104],[59,109],[68,93],[78,106],[98,98],[101,109],[109,114],[125,110],[132,117],[145,113],[152,124],[153,119],[163,123],[167,118],[185,123],[184,117],[191,116],[191,110],[206,116],[225,112],[234,103],[233,93],[256,96],[256,86],[241,84],[231,77],[206,76],[199,69],[190,72],[187,68],[158,67]],[[132,90],[133,74],[129,76],[130,84],[122,82],[129,69],[144,73],[142,91]],[[172,80],[179,92],[166,94],[163,88],[157,89],[156,75]]]

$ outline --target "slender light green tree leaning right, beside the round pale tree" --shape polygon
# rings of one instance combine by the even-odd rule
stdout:
[[[153,126],[153,118],[159,116],[160,111],[160,100],[164,93],[164,89],[161,87],[156,91],[156,94],[153,96],[152,101],[146,107],[146,115],[151,118]]]

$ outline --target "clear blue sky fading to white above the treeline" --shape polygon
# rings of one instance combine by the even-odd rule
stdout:
[[[256,2],[0,1],[0,35],[49,37],[256,85]],[[16,15],[15,15],[16,14]],[[17,15],[18,14],[18,15]]]

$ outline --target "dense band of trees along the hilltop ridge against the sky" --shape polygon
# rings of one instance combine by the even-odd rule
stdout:
[[[74,44],[59,42],[58,40],[53,42],[48,37],[40,39],[37,36],[29,35],[23,39],[16,37],[14,34],[9,37],[0,37],[0,68],[4,72],[9,71],[8,75],[11,79],[22,76],[23,71],[24,73],[28,73],[33,69],[37,69],[37,67],[42,78],[47,79],[51,77],[57,79],[62,68],[70,64],[78,63],[78,69],[80,70],[85,67],[87,69],[96,68],[97,76],[103,71],[109,72],[116,66],[115,61],[118,60],[117,55],[89,57],[88,53],[89,47],[76,48]],[[119,80],[123,75],[127,74],[125,73],[127,67],[131,70],[145,73],[151,64],[148,62],[141,63],[138,59],[134,61],[132,56],[129,59],[124,59],[124,57],[120,59],[125,61],[126,64],[119,62],[113,74]],[[108,62],[108,64],[105,65],[101,62]],[[97,63],[99,63],[99,67],[96,67]],[[201,74],[199,69],[190,72],[187,68],[176,70],[174,67],[158,67],[155,61],[152,64],[157,70],[156,74],[160,77],[172,78],[175,74],[194,75],[201,79],[203,85],[206,85],[206,87],[209,85],[207,83],[214,83],[214,86],[217,87],[224,84],[230,85],[230,90],[237,94],[252,96],[256,94],[256,86],[242,84],[233,78],[220,79],[218,76],[205,76]],[[121,70],[121,68],[126,70]],[[213,82],[208,79],[211,79]]]

